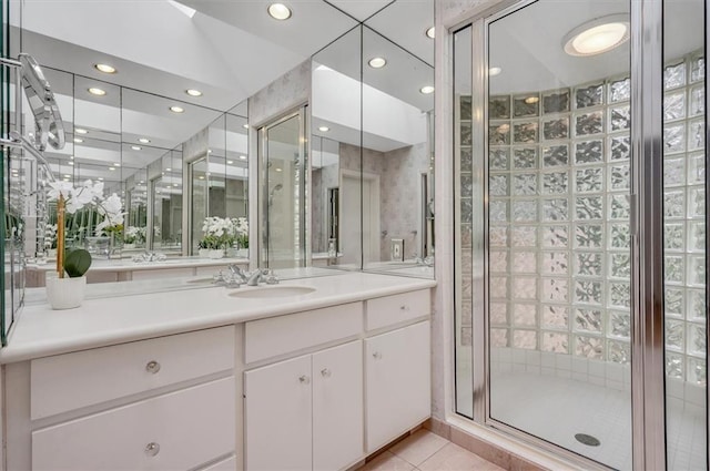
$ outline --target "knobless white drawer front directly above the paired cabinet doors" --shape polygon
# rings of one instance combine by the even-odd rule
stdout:
[[[263,360],[359,334],[363,304],[349,303],[246,322],[244,361]]]

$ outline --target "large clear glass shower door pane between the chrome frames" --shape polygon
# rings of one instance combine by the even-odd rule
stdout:
[[[486,24],[489,418],[617,469],[632,450],[629,9],[539,0]]]

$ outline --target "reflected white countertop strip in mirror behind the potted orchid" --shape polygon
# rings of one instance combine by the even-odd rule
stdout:
[[[248,258],[201,258],[201,257],[168,257],[164,260],[133,262],[131,258],[100,259],[93,258],[89,272],[140,272],[165,268],[191,268],[223,266],[230,264],[248,265]],[[28,269],[49,272],[54,269],[54,260],[45,264],[28,264]]]

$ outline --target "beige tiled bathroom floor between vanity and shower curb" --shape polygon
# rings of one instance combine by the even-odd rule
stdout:
[[[415,433],[395,444],[359,471],[503,471],[428,430]]]

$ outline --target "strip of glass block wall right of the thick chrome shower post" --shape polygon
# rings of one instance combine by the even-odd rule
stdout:
[[[666,68],[663,187],[666,373],[706,385],[704,59]]]

